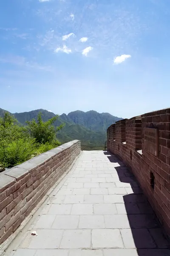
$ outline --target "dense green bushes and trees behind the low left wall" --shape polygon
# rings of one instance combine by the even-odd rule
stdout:
[[[28,122],[27,126],[18,123],[14,116],[5,112],[0,117],[0,167],[16,166],[42,152],[60,145],[56,133],[63,125],[54,127],[58,116],[46,122],[42,121],[42,114]]]

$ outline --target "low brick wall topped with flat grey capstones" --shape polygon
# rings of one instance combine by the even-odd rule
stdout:
[[[80,151],[80,142],[74,140],[1,172],[0,244],[20,226]]]

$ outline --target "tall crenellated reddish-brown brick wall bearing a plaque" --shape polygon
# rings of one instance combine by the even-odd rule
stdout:
[[[144,128],[158,128],[158,156],[144,149]],[[118,121],[107,138],[108,150],[132,170],[170,236],[170,108]]]

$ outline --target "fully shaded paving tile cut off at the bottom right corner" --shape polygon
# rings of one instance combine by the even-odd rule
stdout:
[[[139,256],[170,256],[169,249],[139,249]]]

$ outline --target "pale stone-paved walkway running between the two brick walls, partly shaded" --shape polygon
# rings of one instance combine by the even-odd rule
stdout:
[[[10,256],[170,256],[156,216],[117,157],[83,151],[62,183]]]

